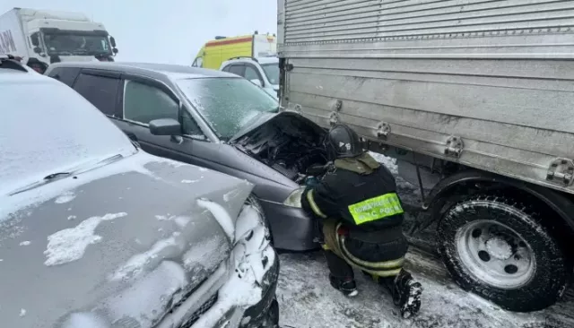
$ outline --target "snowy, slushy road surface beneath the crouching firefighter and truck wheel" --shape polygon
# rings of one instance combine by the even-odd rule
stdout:
[[[283,254],[277,298],[282,328],[567,328],[574,327],[574,301],[531,313],[509,313],[466,293],[439,260],[414,249],[407,268],[424,288],[419,315],[403,320],[387,292],[356,274],[360,294],[345,298],[326,278],[318,252]]]

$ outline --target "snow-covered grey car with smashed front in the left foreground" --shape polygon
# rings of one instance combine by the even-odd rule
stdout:
[[[141,151],[15,61],[0,99],[0,326],[276,327],[252,184]]]

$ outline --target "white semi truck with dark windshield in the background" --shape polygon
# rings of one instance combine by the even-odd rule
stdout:
[[[116,40],[83,13],[13,8],[0,16],[0,55],[24,64],[113,61],[116,54]]]

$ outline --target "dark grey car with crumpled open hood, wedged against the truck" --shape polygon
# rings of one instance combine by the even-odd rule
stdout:
[[[326,162],[325,132],[231,73],[179,65],[58,63],[47,71],[106,114],[144,151],[247,179],[274,246],[315,248],[300,208],[307,168]]]

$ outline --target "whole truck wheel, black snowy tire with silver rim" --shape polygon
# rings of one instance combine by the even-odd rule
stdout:
[[[439,253],[463,289],[510,311],[540,310],[561,298],[572,271],[540,222],[516,200],[474,195],[445,212]]]

